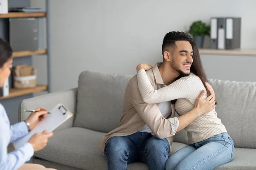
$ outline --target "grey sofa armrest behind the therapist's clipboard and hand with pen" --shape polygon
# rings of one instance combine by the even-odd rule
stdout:
[[[42,96],[33,97],[30,99],[25,99],[20,103],[19,106],[19,122],[28,118],[29,112],[25,112],[24,109],[32,110],[38,107],[52,110],[58,103],[63,103],[67,109],[73,113],[73,116],[59,126],[56,130],[66,129],[73,127],[73,122],[76,116],[76,101],[77,101],[77,88],[58,91],[50,94],[45,94]]]

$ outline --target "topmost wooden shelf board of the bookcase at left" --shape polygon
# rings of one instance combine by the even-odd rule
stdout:
[[[0,14],[0,18],[23,18],[23,17],[46,17],[46,12],[9,12],[8,14]]]

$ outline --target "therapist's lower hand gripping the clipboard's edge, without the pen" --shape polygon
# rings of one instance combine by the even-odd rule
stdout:
[[[46,147],[47,142],[48,142],[48,138],[52,137],[53,133],[49,132],[47,133],[46,130],[44,130],[44,132],[42,133],[35,133],[30,139],[29,139],[29,143],[32,144],[32,147],[34,149],[34,151],[38,151],[41,149],[44,149],[44,147]]]

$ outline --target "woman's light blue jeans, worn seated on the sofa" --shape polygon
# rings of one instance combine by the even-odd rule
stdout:
[[[183,147],[166,162],[166,170],[212,170],[234,156],[234,142],[228,133]]]

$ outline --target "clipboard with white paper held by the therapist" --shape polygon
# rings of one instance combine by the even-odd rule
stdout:
[[[66,122],[70,117],[73,116],[63,104],[59,103],[56,105],[51,111],[51,114],[46,114],[44,120],[38,122],[38,125],[35,126],[28,134],[23,136],[22,138],[18,139],[17,141],[13,142],[13,146],[15,149],[23,146],[35,133],[42,133],[44,130],[47,132],[51,132],[59,127],[61,124]],[[31,113],[33,114],[33,113]]]

